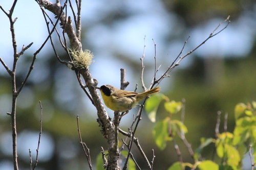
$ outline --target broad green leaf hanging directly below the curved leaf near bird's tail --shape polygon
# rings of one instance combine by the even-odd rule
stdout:
[[[169,118],[166,117],[163,120],[160,120],[153,129],[153,136],[157,147],[160,150],[163,150],[166,147],[166,142],[172,140],[168,134],[168,125],[169,125]]]

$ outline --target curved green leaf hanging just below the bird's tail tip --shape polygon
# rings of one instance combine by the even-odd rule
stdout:
[[[167,97],[161,93],[152,95],[145,104],[145,110],[151,122],[156,122],[157,109],[160,102]]]

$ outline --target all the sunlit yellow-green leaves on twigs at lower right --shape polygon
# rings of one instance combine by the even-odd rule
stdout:
[[[168,114],[156,122],[157,108],[163,100],[165,101],[164,108]],[[169,101],[163,94],[154,95],[148,99],[145,109],[151,121],[156,122],[153,136],[160,150],[163,150],[166,147],[166,143],[172,141],[175,136],[181,137],[187,133],[187,128],[183,122],[172,119],[172,115],[179,113],[182,107],[184,107],[182,102]],[[234,117],[236,118],[236,127],[233,133],[223,132],[217,134],[217,138],[201,138],[201,145],[194,153],[194,164],[175,162],[168,170],[185,169],[185,167],[201,170],[241,169],[242,159],[249,152],[249,148],[256,150],[256,102],[247,105],[243,103],[237,104],[234,109]],[[215,144],[219,162],[199,159],[202,150],[210,143]],[[253,161],[256,162],[256,152],[253,153],[253,157]]]

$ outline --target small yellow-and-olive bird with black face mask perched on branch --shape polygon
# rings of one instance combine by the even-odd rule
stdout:
[[[124,114],[127,114],[142,99],[160,91],[160,87],[155,87],[143,93],[119,90],[111,85],[102,85],[95,88],[100,90],[106,107],[118,112],[126,111]]]

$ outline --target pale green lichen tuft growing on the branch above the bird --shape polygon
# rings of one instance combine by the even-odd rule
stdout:
[[[76,68],[89,68],[93,59],[93,53],[90,50],[76,51],[69,49],[71,56],[73,57],[73,64]]]

